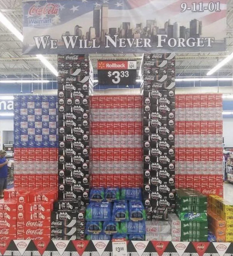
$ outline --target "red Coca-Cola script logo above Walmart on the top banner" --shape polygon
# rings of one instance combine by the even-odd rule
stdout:
[[[45,4],[44,6],[37,6],[33,5],[29,11],[28,14],[30,16],[34,15],[56,15],[59,13],[59,4]]]

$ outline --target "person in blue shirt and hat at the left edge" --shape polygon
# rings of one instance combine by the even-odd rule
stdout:
[[[0,199],[3,198],[4,189],[7,188],[8,161],[6,159],[7,152],[0,150]]]

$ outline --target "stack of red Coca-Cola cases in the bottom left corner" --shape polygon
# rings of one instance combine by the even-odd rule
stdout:
[[[0,240],[50,239],[57,189],[10,189],[0,200]]]

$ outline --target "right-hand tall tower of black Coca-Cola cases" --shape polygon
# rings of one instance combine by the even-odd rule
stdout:
[[[143,202],[147,220],[167,220],[175,209],[175,54],[142,62]]]

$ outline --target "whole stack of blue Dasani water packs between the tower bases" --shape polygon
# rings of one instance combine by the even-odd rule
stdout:
[[[145,209],[139,188],[92,188],[86,208],[86,239],[145,240]]]

